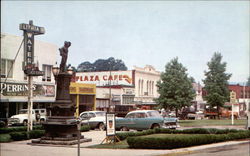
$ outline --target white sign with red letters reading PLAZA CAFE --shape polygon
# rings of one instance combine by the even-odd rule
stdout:
[[[134,85],[132,71],[78,72],[76,73],[75,81],[78,83],[96,84],[96,86]]]

